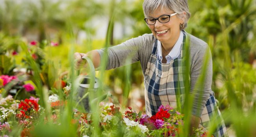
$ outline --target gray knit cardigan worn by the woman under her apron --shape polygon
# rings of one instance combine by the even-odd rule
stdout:
[[[200,117],[202,110],[205,107],[209,96],[214,96],[211,90],[212,81],[212,59],[210,48],[207,43],[190,35],[190,94],[194,96],[192,114]],[[126,59],[130,58],[134,63],[140,61],[143,75],[147,67],[148,59],[152,52],[152,46],[156,38],[153,34],[144,34],[137,38],[132,38],[119,45],[108,48],[108,60],[106,70],[127,65]],[[98,50],[101,61],[103,61],[103,54],[106,49]],[[203,85],[197,85],[197,79],[200,76],[202,65],[204,63],[204,56],[207,53],[210,57],[207,62],[206,73]],[[196,88],[197,87],[197,88]],[[200,88],[198,88],[200,87]]]

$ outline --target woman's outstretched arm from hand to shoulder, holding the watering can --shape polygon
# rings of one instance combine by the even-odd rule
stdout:
[[[141,61],[141,65],[143,70],[145,71],[145,67],[147,65],[147,59],[150,56],[152,50],[152,42],[154,42],[154,36],[152,34],[144,34],[137,38],[132,38],[127,40],[119,45],[109,47],[108,49],[103,48],[100,50],[93,50],[93,64],[95,68],[99,67],[104,61],[106,61],[106,70],[121,67],[123,65],[128,65],[130,63],[134,63],[136,61]],[[104,58],[104,54],[107,53],[107,58]],[[75,53],[74,58],[80,59],[82,56],[88,56],[84,53]],[[127,59],[131,59],[128,60]],[[86,64],[83,63],[82,60],[76,60],[75,67],[81,68],[86,67]],[[143,71],[143,72],[144,72]]]

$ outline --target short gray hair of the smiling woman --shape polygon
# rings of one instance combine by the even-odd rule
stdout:
[[[158,7],[178,13],[179,18],[184,18],[184,27],[180,26],[180,29],[183,30],[187,27],[187,21],[190,18],[187,0],[144,0],[143,12],[145,17],[147,18],[149,14],[153,14]],[[186,16],[182,14],[184,11],[186,12]]]

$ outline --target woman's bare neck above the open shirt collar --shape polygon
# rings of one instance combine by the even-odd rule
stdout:
[[[178,41],[178,38],[180,37],[180,31],[176,36],[173,36],[171,40],[166,41],[166,42],[161,42],[162,45],[162,52],[165,52],[169,54],[169,52],[173,49],[175,43]]]

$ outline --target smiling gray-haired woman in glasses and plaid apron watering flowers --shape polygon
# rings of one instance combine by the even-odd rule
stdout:
[[[187,34],[184,29],[190,17],[187,0],[144,0],[145,22],[152,34],[132,38],[108,49],[106,69],[126,65],[126,58],[132,63],[141,62],[145,84],[145,104],[148,115],[156,114],[160,105],[184,105],[184,57],[185,43],[189,43],[190,95],[194,97],[191,116],[192,127],[208,129],[210,117],[221,119],[211,90],[212,60],[207,43]],[[186,40],[186,39],[189,39]],[[87,54],[75,53],[76,68],[85,65],[83,56],[91,57],[95,68],[100,65],[106,49],[93,50]],[[210,56],[205,73],[204,85],[196,87],[205,55]],[[179,86],[180,85],[180,86]],[[221,119],[222,120],[222,119]],[[214,136],[226,136],[223,120],[216,125]]]

